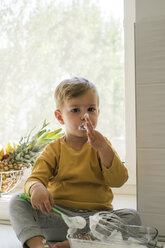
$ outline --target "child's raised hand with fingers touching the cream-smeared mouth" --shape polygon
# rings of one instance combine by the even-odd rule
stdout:
[[[93,128],[92,122],[87,115],[85,116],[85,125],[87,128],[88,143],[98,151],[105,147],[107,142],[104,136]]]

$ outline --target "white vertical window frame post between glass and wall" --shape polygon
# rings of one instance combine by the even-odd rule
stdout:
[[[136,184],[136,117],[135,117],[135,0],[124,0],[125,53],[125,125],[126,165],[130,169],[128,184]]]

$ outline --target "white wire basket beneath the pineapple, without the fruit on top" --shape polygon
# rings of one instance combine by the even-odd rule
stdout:
[[[0,172],[0,194],[9,193],[22,179],[24,169]]]

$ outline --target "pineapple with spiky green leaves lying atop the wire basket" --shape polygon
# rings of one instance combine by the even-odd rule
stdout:
[[[34,136],[31,137],[32,130],[27,137],[20,139],[18,145],[14,144],[12,147],[8,143],[7,153],[3,155],[0,161],[0,172],[33,166],[44,147],[63,135],[61,128],[51,131],[46,129],[47,125],[48,123],[44,121],[42,128]]]

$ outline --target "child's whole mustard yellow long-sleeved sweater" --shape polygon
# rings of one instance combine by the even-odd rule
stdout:
[[[127,179],[127,169],[116,153],[107,169],[88,143],[75,151],[60,138],[49,144],[37,159],[24,192],[29,195],[30,187],[40,182],[47,187],[55,204],[73,209],[113,209],[111,187],[120,187]]]

